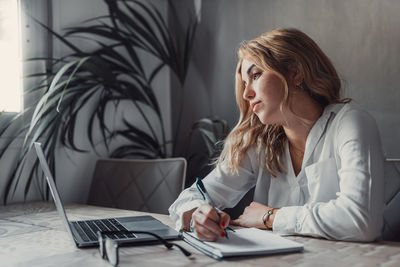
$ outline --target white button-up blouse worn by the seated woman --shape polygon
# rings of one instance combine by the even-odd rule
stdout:
[[[215,205],[234,207],[252,187],[254,201],[280,208],[273,231],[335,240],[372,241],[383,225],[383,153],[375,120],[357,105],[324,109],[306,141],[301,171],[295,176],[288,146],[286,173],[272,177],[249,149],[232,174],[222,164],[203,179]],[[185,211],[203,204],[195,185],[169,208],[176,228]],[[261,219],[260,219],[261,220]]]

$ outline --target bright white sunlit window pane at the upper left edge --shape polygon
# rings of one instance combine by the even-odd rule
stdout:
[[[17,0],[0,0],[0,112],[20,112],[22,75]]]

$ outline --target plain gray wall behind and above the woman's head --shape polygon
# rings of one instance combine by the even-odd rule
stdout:
[[[376,118],[386,155],[400,157],[399,14],[398,0],[203,0],[182,136],[194,119],[210,114],[233,126],[239,114],[233,79],[239,43],[295,27],[331,58],[344,96]]]

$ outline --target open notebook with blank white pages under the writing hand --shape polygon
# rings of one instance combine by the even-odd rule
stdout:
[[[220,238],[216,242],[201,241],[190,232],[182,232],[181,235],[188,244],[215,259],[303,250],[300,243],[257,228],[236,229],[235,232],[229,232],[229,239]]]

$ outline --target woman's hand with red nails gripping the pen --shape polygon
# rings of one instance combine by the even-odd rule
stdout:
[[[225,228],[231,218],[227,213],[203,204],[192,213],[192,220],[194,232],[199,239],[217,241],[218,238],[225,237]]]

